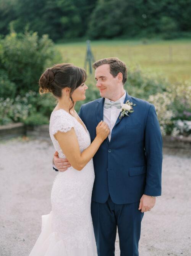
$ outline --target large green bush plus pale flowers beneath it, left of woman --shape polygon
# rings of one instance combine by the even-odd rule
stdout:
[[[40,96],[38,81],[45,68],[61,62],[47,35],[12,32],[0,39],[0,124],[49,123],[55,99]]]

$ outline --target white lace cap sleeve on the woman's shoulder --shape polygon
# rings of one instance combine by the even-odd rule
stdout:
[[[66,111],[55,111],[52,118],[52,134],[68,132],[74,127],[73,118]]]

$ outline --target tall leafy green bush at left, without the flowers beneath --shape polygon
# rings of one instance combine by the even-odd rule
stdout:
[[[46,66],[61,61],[47,35],[11,33],[0,40],[0,67],[15,83],[16,95],[38,91],[38,81]],[[2,97],[4,97],[2,95]]]

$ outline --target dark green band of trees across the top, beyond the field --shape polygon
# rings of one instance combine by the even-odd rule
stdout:
[[[190,36],[191,0],[0,0],[0,34],[25,28],[53,40]]]

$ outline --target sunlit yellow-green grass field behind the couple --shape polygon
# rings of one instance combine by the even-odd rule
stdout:
[[[84,67],[86,42],[57,44],[65,62]],[[191,81],[191,40],[92,41],[95,60],[117,56],[130,69],[139,66],[149,74],[165,76],[170,82]]]

